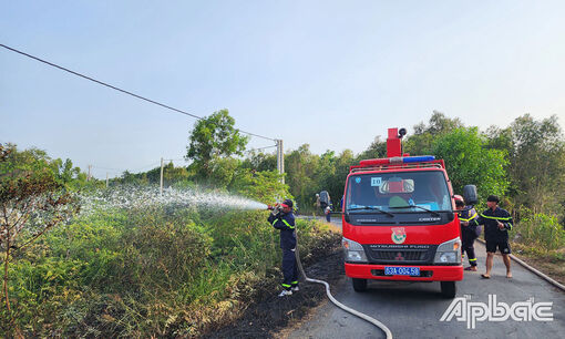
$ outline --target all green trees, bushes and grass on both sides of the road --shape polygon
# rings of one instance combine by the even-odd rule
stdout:
[[[295,197],[307,212],[315,194],[326,189],[336,208],[349,166],[386,156],[378,136],[358,155],[349,150],[316,155],[305,144],[286,153],[282,184],[275,155],[244,153],[247,138],[233,125],[225,110],[198,121],[187,146],[192,163],[167,164],[165,187],[204,187],[266,204]],[[526,114],[506,129],[481,132],[435,112],[413,130],[404,152],[444,158],[455,193],[475,184],[481,199],[503,196],[502,207],[515,219],[514,253],[563,282],[565,138],[556,117],[535,121]],[[161,205],[71,217],[78,192],[155,187],[160,172],[124,172],[106,188],[70,160],[0,145],[2,335],[198,336],[236,319],[256,296],[276,291],[278,234],[266,212]],[[302,258],[339,242],[325,223],[297,223]],[[13,225],[21,226],[17,236]]]

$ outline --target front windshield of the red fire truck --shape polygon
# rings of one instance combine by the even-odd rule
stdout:
[[[392,213],[452,209],[441,171],[355,174],[349,176],[347,187],[346,212],[362,207]]]

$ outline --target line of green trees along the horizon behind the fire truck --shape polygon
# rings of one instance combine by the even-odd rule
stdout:
[[[198,185],[237,192],[253,181],[276,182],[276,154],[246,151],[249,140],[234,125],[227,110],[197,121],[186,146],[189,165],[165,164],[165,186]],[[22,162],[40,158],[49,163],[55,179],[73,189],[105,185],[103,181],[88,182],[71,160],[51,160],[37,148],[18,152],[13,144],[3,147]],[[492,125],[480,131],[434,111],[428,122],[409,129],[403,152],[443,158],[455,194],[461,194],[464,185],[474,184],[482,201],[497,194],[510,209],[544,213],[565,222],[565,191],[561,188],[565,182],[565,137],[556,115],[536,120],[524,114],[507,127]],[[337,209],[349,167],[361,160],[386,156],[387,143],[379,135],[359,154],[351,150],[315,154],[309,144],[302,144],[285,154],[286,187],[304,212],[312,210],[315,195],[320,191],[329,192]],[[110,185],[158,185],[160,178],[161,167],[141,173],[125,171]]]

